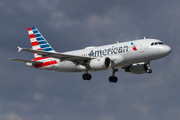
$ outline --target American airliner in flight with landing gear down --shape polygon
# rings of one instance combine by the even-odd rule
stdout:
[[[85,72],[84,80],[91,80],[89,71],[103,71],[112,69],[109,82],[116,83],[115,73],[118,68],[132,74],[152,73],[150,62],[163,58],[171,53],[171,48],[158,39],[139,39],[104,46],[90,46],[85,49],[56,52],[36,27],[28,28],[32,45],[30,48],[18,47],[18,52],[34,53],[35,59],[10,60],[24,62],[26,66],[36,69],[58,72]]]

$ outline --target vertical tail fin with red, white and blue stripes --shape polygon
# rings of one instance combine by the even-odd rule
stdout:
[[[28,34],[31,41],[32,49],[55,52],[36,27],[28,28]],[[42,56],[35,53],[34,57],[36,59]]]

